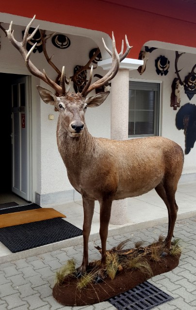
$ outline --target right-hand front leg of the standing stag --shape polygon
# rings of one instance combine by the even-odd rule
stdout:
[[[111,216],[112,199],[104,199],[100,204],[100,229],[99,235],[101,239],[101,264],[96,282],[102,281],[104,278],[104,270],[106,267],[106,241],[108,237],[108,225]]]

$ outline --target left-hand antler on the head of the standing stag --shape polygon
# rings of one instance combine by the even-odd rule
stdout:
[[[18,42],[16,41],[15,37],[14,37],[14,30],[12,30],[12,24],[13,22],[11,21],[9,29],[6,30],[6,33],[8,35],[8,38],[10,40],[10,42],[12,43],[12,45],[14,45],[14,47],[16,47],[16,49],[20,52],[20,54],[22,55],[22,58],[24,59],[27,69],[36,77],[40,78],[41,80],[43,80],[45,83],[47,83],[49,86],[51,86],[52,88],[54,88],[56,90],[56,92],[61,95],[62,94],[62,88],[61,86],[59,86],[58,84],[56,84],[54,81],[52,81],[51,79],[49,79],[49,77],[46,75],[45,71],[44,73],[42,73],[39,69],[37,69],[33,63],[31,62],[30,55],[33,51],[33,49],[35,48],[36,44],[33,45],[33,47],[31,48],[31,50],[29,52],[27,52],[26,49],[26,44],[27,41],[29,40],[30,37],[32,37],[33,34],[31,34],[28,37],[28,31],[33,23],[33,20],[35,19],[35,16],[32,18],[32,20],[30,21],[30,23],[27,25],[26,29],[25,29],[25,33],[23,36],[23,40],[22,42]],[[38,28],[37,28],[38,29]],[[34,33],[34,32],[33,32]]]

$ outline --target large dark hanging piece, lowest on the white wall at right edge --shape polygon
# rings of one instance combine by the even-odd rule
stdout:
[[[189,154],[196,142],[196,105],[184,104],[176,114],[176,127],[184,130],[185,154]]]

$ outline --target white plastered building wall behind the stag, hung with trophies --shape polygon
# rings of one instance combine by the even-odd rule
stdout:
[[[3,24],[5,29],[8,29],[8,24]],[[13,26],[15,29],[15,37],[19,41],[22,39],[22,30],[24,27]],[[52,58],[55,65],[61,69],[65,65],[65,73],[67,76],[73,75],[73,69],[76,65],[84,65],[88,60],[88,53],[91,49],[97,47],[96,43],[82,36],[69,35],[71,45],[68,49],[60,50],[55,48],[51,40],[47,41],[47,51],[49,55],[54,54]],[[9,40],[1,34],[1,49],[0,49],[0,69],[1,72],[29,74],[25,67],[24,61],[11,45]],[[164,55],[170,61],[169,72],[166,76],[157,75],[155,70],[155,59]],[[131,53],[130,53],[131,57]],[[44,54],[36,52],[32,54],[31,59],[39,69],[46,69],[50,78],[56,78],[56,72],[48,65]],[[170,107],[171,84],[176,77],[175,68],[175,52],[168,50],[155,50],[149,55],[147,61],[146,71],[140,75],[137,70],[130,71],[131,79],[141,79],[144,81],[161,81],[161,110],[160,110],[160,134],[178,142],[184,150],[185,137],[182,130],[178,130],[175,125],[176,113]],[[184,54],[179,59],[179,69],[184,68],[180,72],[182,80],[191,71],[196,63],[195,54]],[[104,75],[105,71],[98,68],[94,73]],[[72,190],[63,161],[58,153],[56,144],[56,125],[58,119],[58,112],[54,111],[54,107],[47,105],[39,99],[37,90],[35,89],[35,81],[33,81],[33,103],[32,103],[32,117],[33,117],[33,191],[38,194],[49,194],[54,192],[64,192]],[[40,81],[40,85],[49,88],[44,82]],[[95,92],[93,91],[90,96]],[[182,92],[181,105],[185,103],[196,103],[196,96],[189,101],[187,95]],[[88,109],[86,113],[86,123],[89,132],[96,137],[110,138],[110,107],[111,96],[101,106]],[[49,114],[54,115],[54,120],[49,121]],[[189,155],[185,155],[183,174],[196,172],[196,145],[191,150]]]

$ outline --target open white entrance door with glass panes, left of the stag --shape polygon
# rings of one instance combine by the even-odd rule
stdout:
[[[12,191],[31,201],[28,77],[12,81]]]

